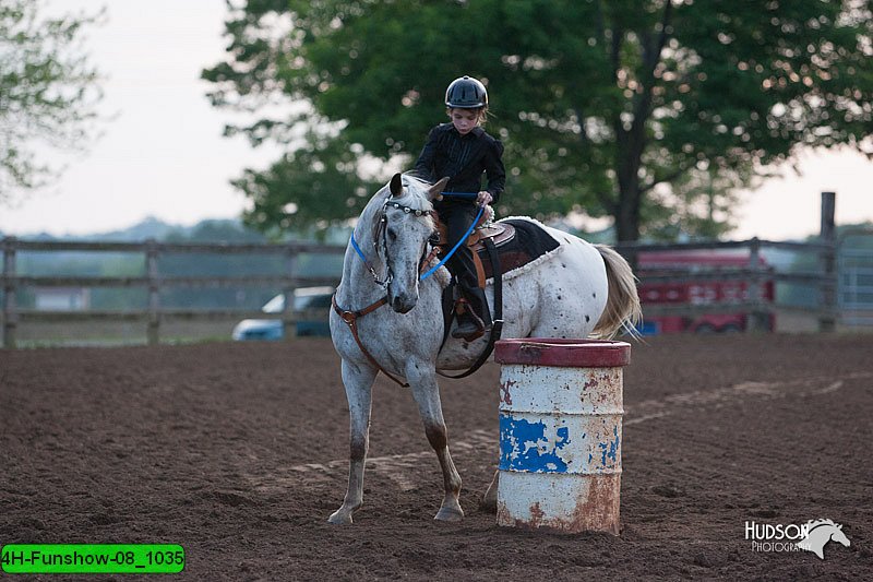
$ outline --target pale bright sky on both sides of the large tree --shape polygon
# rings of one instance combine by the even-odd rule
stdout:
[[[280,150],[223,138],[224,124],[238,118],[206,99],[210,85],[200,73],[223,59],[225,2],[46,2],[52,14],[107,7],[107,22],[91,28],[86,48],[107,78],[101,112],[112,120],[58,182],[0,206],[0,231],[86,235],[148,216],[186,226],[240,216],[247,200],[230,180],[246,167],[266,167]],[[786,170],[741,193],[730,238],[817,233],[823,191],[837,192],[837,224],[873,221],[873,162],[852,152],[804,152],[799,162],[802,176]]]

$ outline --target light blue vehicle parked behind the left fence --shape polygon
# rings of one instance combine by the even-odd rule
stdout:
[[[323,310],[324,317],[318,320],[302,320],[297,322],[297,335],[302,336],[328,336],[331,328],[327,323],[327,311],[331,307],[331,297],[334,294],[333,287],[302,287],[294,292],[295,311],[309,311],[313,309]],[[267,301],[261,311],[264,313],[282,313],[285,310],[285,295],[278,294]],[[243,319],[234,328],[230,335],[236,341],[282,340],[285,334],[282,329],[280,319]]]

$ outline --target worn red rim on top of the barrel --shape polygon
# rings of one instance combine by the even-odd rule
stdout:
[[[607,368],[631,363],[631,344],[612,340],[518,337],[494,344],[498,364]]]

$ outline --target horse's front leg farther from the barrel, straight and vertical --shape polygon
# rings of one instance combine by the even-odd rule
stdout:
[[[376,371],[343,360],[343,384],[346,387],[349,417],[348,490],[343,506],[327,521],[351,523],[351,513],[363,504],[363,465],[370,449],[370,413]]]

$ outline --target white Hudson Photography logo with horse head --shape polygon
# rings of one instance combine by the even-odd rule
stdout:
[[[753,551],[812,551],[822,560],[828,542],[851,545],[842,533],[842,525],[832,520],[810,520],[801,524],[748,521],[745,538],[752,542]]]

